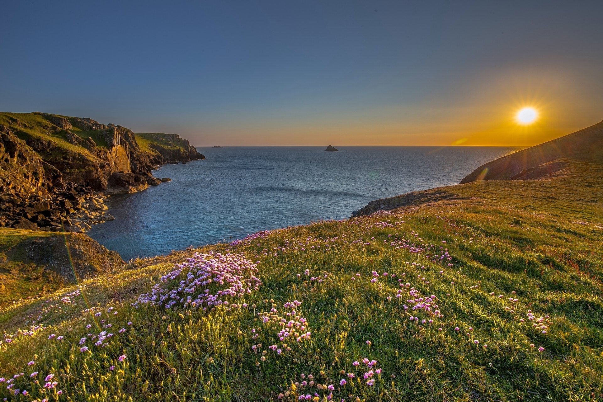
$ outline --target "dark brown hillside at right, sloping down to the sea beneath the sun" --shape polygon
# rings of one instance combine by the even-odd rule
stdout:
[[[461,183],[544,178],[557,174],[571,160],[603,161],[603,122],[488,162]]]

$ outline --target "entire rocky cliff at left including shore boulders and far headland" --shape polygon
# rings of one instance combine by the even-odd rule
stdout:
[[[203,159],[178,136],[162,141],[163,154],[153,142],[141,149],[134,133],[119,125],[37,112],[0,113],[0,226],[80,231],[74,228],[78,222],[104,220],[98,216],[106,209],[99,206],[103,193],[157,185],[160,180],[151,175],[156,165]],[[78,211],[86,206],[92,212],[84,218],[92,221],[80,219]],[[74,214],[77,219],[70,220]]]

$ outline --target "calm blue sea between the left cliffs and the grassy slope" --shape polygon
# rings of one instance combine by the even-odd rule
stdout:
[[[88,232],[124,260],[259,230],[348,218],[377,198],[458,183],[507,147],[246,146],[206,148],[206,160],[166,165],[169,177],[107,202],[115,221]]]

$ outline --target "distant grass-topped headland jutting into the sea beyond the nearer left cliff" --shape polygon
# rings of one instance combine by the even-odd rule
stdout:
[[[188,140],[177,134],[136,133],[136,140],[144,151],[150,155],[150,160],[156,165],[177,162],[181,160],[205,159],[197,152]]]

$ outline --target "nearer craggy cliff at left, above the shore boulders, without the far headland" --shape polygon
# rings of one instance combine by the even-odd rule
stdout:
[[[0,177],[5,194],[46,195],[69,183],[132,192],[159,183],[151,176],[149,155],[125,127],[87,118],[1,113],[0,132],[1,152],[8,156]],[[128,180],[114,180],[116,173]]]

